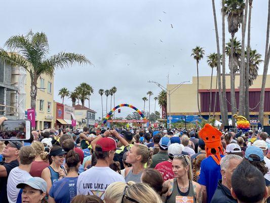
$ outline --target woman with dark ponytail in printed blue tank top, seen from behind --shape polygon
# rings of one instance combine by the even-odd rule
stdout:
[[[69,150],[65,158],[67,176],[53,183],[49,192],[49,203],[70,202],[77,194],[77,180],[80,156],[74,150]]]

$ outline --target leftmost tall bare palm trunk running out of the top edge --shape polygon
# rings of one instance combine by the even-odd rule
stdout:
[[[219,108],[220,108],[220,114],[222,119],[227,118],[224,115],[224,105],[222,100],[222,92],[221,92],[221,68],[220,68],[220,49],[219,49],[219,38],[218,38],[218,28],[217,28],[217,18],[216,18],[216,8],[215,8],[215,1],[212,0],[212,7],[213,7],[213,16],[214,16],[214,24],[215,24],[215,33],[216,33],[216,44],[217,44],[217,77],[218,77],[218,96],[219,96]],[[223,58],[225,58],[225,54],[223,55]],[[215,101],[216,104],[216,101]],[[215,107],[214,107],[215,111]]]

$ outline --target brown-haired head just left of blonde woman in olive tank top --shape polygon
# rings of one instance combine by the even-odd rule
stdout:
[[[168,186],[163,185],[164,180],[161,173],[153,168],[147,168],[143,171],[141,182],[148,184],[161,197],[168,191]]]

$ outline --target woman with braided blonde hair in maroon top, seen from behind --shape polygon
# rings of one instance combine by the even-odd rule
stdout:
[[[30,175],[32,177],[40,177],[44,168],[48,167],[49,164],[49,153],[45,152],[45,147],[41,142],[33,142],[31,147],[35,150],[35,159],[32,162]]]

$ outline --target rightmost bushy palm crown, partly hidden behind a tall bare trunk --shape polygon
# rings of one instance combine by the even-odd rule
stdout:
[[[246,63],[249,63],[248,87],[253,85],[253,81],[256,80],[256,78],[258,76],[259,65],[263,61],[263,60],[261,60],[261,57],[262,57],[261,54],[257,53],[256,49],[254,49],[254,50],[250,49],[249,60],[247,60],[248,55],[247,55],[247,51],[246,51]],[[246,67],[247,67],[247,65],[246,65]]]

